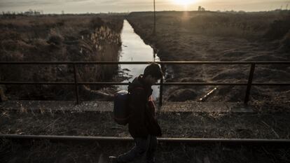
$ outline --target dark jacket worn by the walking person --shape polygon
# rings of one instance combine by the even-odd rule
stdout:
[[[153,90],[146,85],[142,76],[134,78],[128,86],[130,92],[129,132],[133,138],[146,138],[149,134],[161,136],[161,129],[155,118],[155,108],[150,100]]]

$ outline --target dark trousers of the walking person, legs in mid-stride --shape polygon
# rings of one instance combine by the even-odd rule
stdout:
[[[156,136],[149,135],[147,139],[134,138],[135,146],[127,153],[118,156],[118,162],[127,163],[139,159],[146,153],[146,162],[155,162],[154,153],[156,151],[158,141]]]

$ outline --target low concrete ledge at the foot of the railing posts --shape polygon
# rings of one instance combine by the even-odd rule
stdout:
[[[157,107],[158,108],[158,107]],[[76,105],[75,101],[4,101],[0,110],[20,111],[113,111],[112,101],[83,101]],[[158,109],[156,109],[157,111]],[[251,106],[242,103],[223,102],[165,102],[159,108],[161,112],[209,112],[209,113],[253,113]]]

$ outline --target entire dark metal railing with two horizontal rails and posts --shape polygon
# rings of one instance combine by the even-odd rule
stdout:
[[[76,104],[80,103],[78,95],[78,85],[128,85],[129,83],[114,83],[114,82],[79,82],[76,77],[76,65],[88,65],[88,64],[151,64],[153,62],[0,62],[0,65],[3,64],[48,64],[48,65],[59,65],[67,64],[73,65],[74,67],[74,82],[13,82],[13,81],[0,81],[0,85],[74,85],[76,92]],[[159,106],[163,105],[163,86],[165,85],[244,85],[247,86],[246,96],[244,98],[244,104],[247,104],[249,101],[249,94],[252,85],[290,85],[290,83],[253,83],[254,71],[256,64],[285,64],[290,65],[290,62],[154,62],[163,65],[168,64],[225,64],[225,65],[251,65],[249,72],[249,79],[247,83],[164,83],[163,78],[161,78],[159,92]]]

